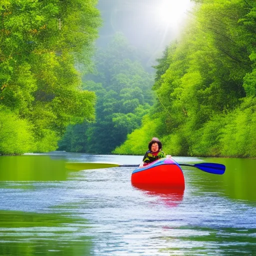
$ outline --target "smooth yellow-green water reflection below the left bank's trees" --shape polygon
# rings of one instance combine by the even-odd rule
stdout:
[[[66,180],[64,163],[49,155],[0,156],[0,181]]]

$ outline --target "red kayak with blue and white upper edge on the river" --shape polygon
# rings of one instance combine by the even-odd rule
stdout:
[[[140,187],[185,188],[183,171],[172,158],[161,158],[133,170],[131,183]]]

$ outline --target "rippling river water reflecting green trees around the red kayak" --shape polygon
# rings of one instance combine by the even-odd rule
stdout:
[[[0,255],[256,255],[256,159],[182,167],[183,192],[141,190],[133,167],[70,171],[66,161],[139,164],[142,156],[0,156]]]

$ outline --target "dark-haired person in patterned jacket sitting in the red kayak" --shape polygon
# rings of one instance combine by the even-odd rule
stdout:
[[[147,165],[157,159],[166,157],[166,154],[162,151],[162,143],[156,137],[153,137],[148,143],[148,149],[143,157],[142,166]]]

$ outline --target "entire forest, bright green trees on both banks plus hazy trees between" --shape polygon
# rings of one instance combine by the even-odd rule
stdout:
[[[122,33],[94,50],[95,1],[3,0],[0,153],[256,156],[256,2],[194,0],[157,58]],[[152,34],[152,37],[154,34]]]

